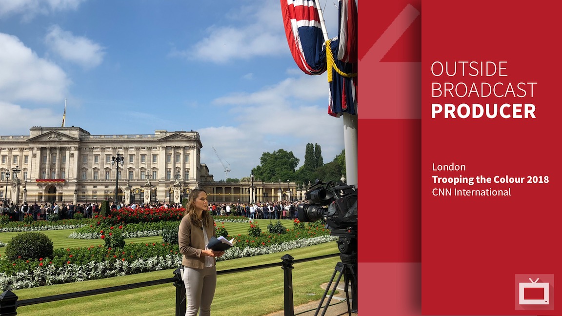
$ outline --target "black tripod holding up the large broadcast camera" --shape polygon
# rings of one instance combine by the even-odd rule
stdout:
[[[316,308],[316,313],[314,316],[318,316],[320,309],[324,307],[324,310],[321,316],[324,316],[328,307],[330,306],[330,301],[336,293],[336,289],[338,287],[339,281],[342,279],[345,286],[343,287],[343,291],[346,293],[346,300],[347,300],[347,314],[351,316],[351,313],[357,313],[357,234],[351,231],[345,231],[341,229],[334,229],[331,233],[333,236],[339,236],[338,239],[338,249],[339,249],[339,258],[342,260],[336,264],[334,268],[334,273],[332,274],[332,278],[330,278],[330,282],[326,286],[326,291],[324,292],[324,296],[320,300],[320,304],[318,304],[318,308]],[[339,272],[339,273],[338,273]],[[334,279],[337,280],[334,283]],[[328,297],[328,301],[324,306],[324,299],[330,291],[330,287],[332,287],[332,283],[334,287],[332,288],[332,292],[330,292],[330,296]],[[349,287],[351,284],[351,305],[350,305],[350,295],[349,295]]]

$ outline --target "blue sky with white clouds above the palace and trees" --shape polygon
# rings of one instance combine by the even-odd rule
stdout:
[[[330,37],[337,1],[320,1]],[[0,1],[0,135],[34,125],[91,134],[197,130],[215,180],[250,175],[262,152],[304,162],[343,149],[326,74],[294,63],[279,0]],[[225,162],[225,164],[226,164]]]

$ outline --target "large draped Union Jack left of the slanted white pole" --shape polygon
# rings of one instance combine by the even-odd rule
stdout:
[[[326,70],[324,35],[316,0],[281,0],[287,43],[298,67],[309,75]]]

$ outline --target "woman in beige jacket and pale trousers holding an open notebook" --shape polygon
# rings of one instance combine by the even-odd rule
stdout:
[[[193,189],[189,193],[182,222],[179,224],[178,243],[183,255],[183,282],[187,292],[186,316],[211,315],[211,303],[215,296],[216,267],[215,258],[224,251],[207,249],[216,229],[208,209],[207,192]]]

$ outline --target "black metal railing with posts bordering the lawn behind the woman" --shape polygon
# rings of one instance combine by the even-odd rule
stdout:
[[[219,270],[217,271],[216,274],[221,275],[221,274],[246,272],[246,271],[258,270],[258,269],[273,268],[279,266],[282,267],[284,270],[285,316],[289,316],[289,315],[293,315],[293,290],[292,290],[293,285],[292,285],[292,272],[291,272],[291,270],[293,269],[292,265],[295,263],[302,263],[306,261],[332,258],[338,255],[339,254],[330,254],[330,255],[316,256],[312,258],[305,258],[305,259],[298,259],[298,260],[293,260],[293,257],[291,255],[284,255],[281,258],[283,260],[282,263],[268,263],[268,264],[252,265],[251,267]],[[105,287],[105,288],[97,288],[95,290],[79,291],[79,292],[72,292],[72,293],[60,294],[60,295],[43,296],[43,297],[37,297],[35,299],[27,299],[21,301],[17,300],[18,297],[16,294],[14,294],[10,290],[7,290],[4,291],[2,294],[0,294],[0,316],[17,315],[16,309],[19,306],[28,306],[28,305],[49,303],[49,302],[60,301],[60,300],[75,299],[77,297],[104,294],[104,293],[117,292],[123,290],[132,290],[133,288],[161,285],[170,282],[172,282],[173,285],[176,287],[176,315],[177,316],[185,315],[185,286],[183,285],[183,279],[180,273],[180,268],[178,268],[174,271],[174,277],[171,278],[131,283],[126,285],[119,285],[119,286],[112,286],[112,287]]]

